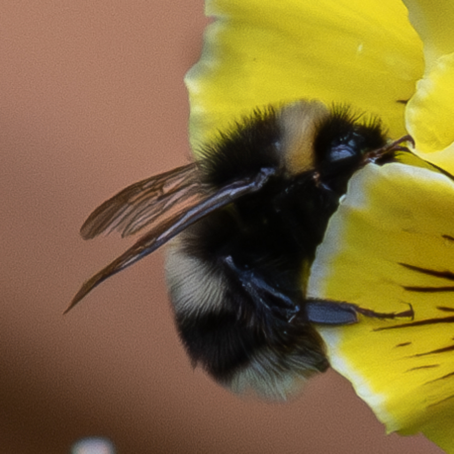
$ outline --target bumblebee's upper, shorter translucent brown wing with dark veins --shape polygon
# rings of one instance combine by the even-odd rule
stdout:
[[[106,200],[88,216],[80,233],[85,240],[114,230],[122,237],[133,235],[199,193],[197,164],[175,168],[134,183]]]

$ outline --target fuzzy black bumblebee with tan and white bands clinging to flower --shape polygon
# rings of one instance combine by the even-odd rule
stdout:
[[[85,282],[67,311],[172,240],[169,294],[193,365],[234,391],[285,398],[329,366],[314,324],[402,315],[308,299],[305,287],[349,179],[368,162],[392,161],[408,140],[390,142],[377,118],[348,106],[256,109],[195,162],[127,187],[88,217],[85,239],[149,231]]]

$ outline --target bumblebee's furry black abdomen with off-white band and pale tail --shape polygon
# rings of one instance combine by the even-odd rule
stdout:
[[[252,388],[271,398],[285,398],[328,367],[323,343],[309,324],[289,323],[258,306],[222,265],[221,249],[195,253],[192,240],[188,232],[171,246],[167,279],[194,366],[237,392]]]

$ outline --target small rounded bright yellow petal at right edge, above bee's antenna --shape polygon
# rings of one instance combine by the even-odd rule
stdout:
[[[440,57],[418,82],[417,92],[407,105],[406,119],[418,151],[428,153],[421,156],[453,173],[454,53]]]

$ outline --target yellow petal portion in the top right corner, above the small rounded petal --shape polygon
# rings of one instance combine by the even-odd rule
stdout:
[[[454,52],[454,8],[452,0],[404,0],[410,22],[424,43],[426,73],[437,59]]]

